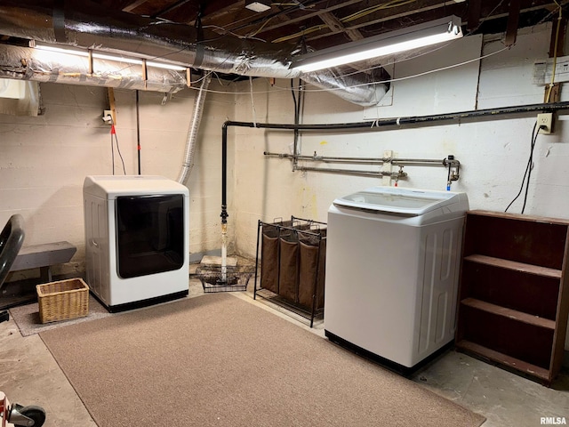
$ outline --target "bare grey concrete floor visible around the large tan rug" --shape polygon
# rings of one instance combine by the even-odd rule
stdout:
[[[251,287],[251,286],[250,286]],[[201,283],[190,279],[190,297],[203,294]],[[252,292],[231,293],[264,310],[324,337],[324,324],[309,328],[268,302],[252,299]],[[12,318],[0,324],[0,391],[21,405],[43,407],[44,427],[96,427],[65,375],[38,335],[22,337]],[[534,427],[541,417],[565,417],[569,423],[569,372],[547,388],[499,367],[449,350],[412,380],[427,389],[485,415],[484,427]],[[563,421],[563,420],[561,420]],[[1,422],[0,422],[1,425]]]

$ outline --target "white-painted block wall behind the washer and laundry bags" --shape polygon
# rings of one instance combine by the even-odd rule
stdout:
[[[510,49],[504,48],[501,37],[469,37],[439,50],[434,59],[425,55],[396,63],[394,77],[404,79],[393,83],[392,101],[383,107],[363,109],[332,93],[312,92],[308,86],[303,123],[350,123],[373,115],[413,117],[541,103],[544,86],[533,84],[533,62],[548,58],[550,31],[550,25],[526,29]],[[472,61],[481,56],[482,60]],[[464,64],[421,75],[459,62]],[[418,74],[421,76],[405,78]],[[254,85],[256,94],[251,101],[249,85],[241,84],[236,120],[251,121],[253,104],[256,117],[270,123],[293,123],[293,98],[286,83],[271,87],[259,79]],[[562,91],[562,101],[566,98]],[[452,154],[461,161],[461,179],[453,182],[452,189],[466,191],[473,209],[504,211],[522,183],[535,122],[536,115],[531,114],[392,127],[381,132],[305,132],[301,154],[310,156],[317,151],[322,156],[383,157],[390,150],[395,157],[441,160]],[[537,138],[525,214],[569,218],[565,123],[557,121],[555,133]],[[292,132],[234,128],[231,133],[236,141],[236,248],[246,256],[255,254],[258,220],[270,222],[293,214],[325,222],[335,197],[385,183],[381,178],[293,173],[289,160],[263,156],[263,150],[292,154]],[[408,177],[398,182],[401,187],[446,187],[443,166],[405,166],[404,170]],[[522,204],[520,197],[509,212],[519,213]]]

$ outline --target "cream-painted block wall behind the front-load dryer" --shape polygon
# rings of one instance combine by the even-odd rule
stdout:
[[[216,85],[213,83],[212,87]],[[103,109],[108,109],[108,91],[102,87],[47,83],[40,88],[43,116],[0,115],[0,223],[4,226],[10,215],[22,214],[26,227],[24,245],[59,240],[76,245],[71,262],[53,272],[81,274],[84,177],[113,173],[110,126],[101,119]],[[227,87],[223,89],[227,91]],[[195,93],[195,89],[186,89],[164,99],[164,93],[140,92],[141,173],[178,178]],[[116,137],[124,168],[127,174],[136,174],[136,93],[115,90],[114,95]],[[191,253],[220,247],[220,128],[233,110],[233,97],[227,94],[211,93],[204,105],[196,163],[185,182],[192,206]],[[115,173],[123,174],[116,142],[114,149]],[[231,183],[228,189],[232,190]],[[34,272],[15,273],[9,280],[30,274]]]

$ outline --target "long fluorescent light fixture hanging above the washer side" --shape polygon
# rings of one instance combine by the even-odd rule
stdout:
[[[462,36],[461,19],[449,16],[379,36],[372,36],[322,51],[309,52],[293,59],[291,68],[303,73],[317,69],[336,67],[360,60],[370,60],[418,47],[443,43]]]

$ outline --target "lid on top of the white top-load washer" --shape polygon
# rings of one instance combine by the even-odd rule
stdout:
[[[430,189],[373,187],[337,198],[333,204],[377,214],[388,213],[418,216],[442,206],[459,203],[461,198],[465,198],[461,197],[463,194]]]

